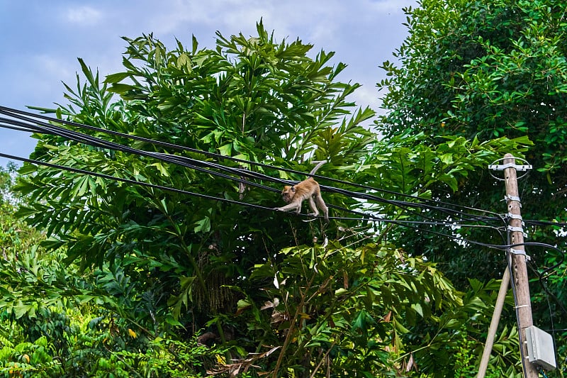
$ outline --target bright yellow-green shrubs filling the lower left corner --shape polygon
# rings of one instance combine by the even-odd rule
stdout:
[[[13,191],[17,167],[0,168],[0,372],[6,377],[200,377],[218,348],[148,338],[137,284],[123,269],[64,263],[45,235],[14,216],[27,199]],[[139,375],[136,375],[139,374]]]

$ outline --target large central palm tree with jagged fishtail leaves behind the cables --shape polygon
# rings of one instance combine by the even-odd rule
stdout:
[[[172,52],[151,35],[127,39],[126,71],[106,78],[111,88],[99,84],[98,75],[82,62],[87,82],[77,89],[67,87],[72,105],[60,112],[101,128],[303,171],[309,170],[305,162],[313,150],[314,157],[332,165],[356,161],[369,142],[369,133],[358,124],[372,113],[359,111],[339,128],[330,127],[352,106],[345,97],[358,86],[334,81],[344,65],[325,66],[332,54],[320,52],[311,60],[305,56],[310,45],[299,40],[276,44],[262,24],[258,30],[258,37],[251,39],[218,35],[217,50],[198,50],[194,39],[192,50],[178,43]],[[139,67],[134,65],[137,61]],[[131,84],[122,83],[126,78]],[[114,101],[116,93],[123,99]],[[147,144],[141,147],[162,152]],[[252,204],[277,203],[275,195],[252,187],[242,190],[237,182],[213,174],[123,152],[67,145],[59,137],[42,136],[33,156],[198,194],[225,199],[246,194]],[[206,161],[203,156],[186,156]],[[200,310],[193,314],[231,308],[235,298],[223,287],[234,283],[229,277],[247,276],[266,252],[291,241],[281,231],[286,227],[281,218],[266,211],[77,174],[51,177],[52,169],[24,167],[23,173],[31,172],[35,176],[28,175],[30,184],[21,189],[30,191],[34,200],[58,201],[35,201],[26,215],[32,216],[34,226],[46,227],[69,246],[69,260],[100,265],[119,259],[135,277],[148,272],[147,289],[162,301],[168,296],[159,293],[177,287],[180,276],[186,283],[195,280],[182,285],[184,291],[176,296],[176,315],[189,294]],[[285,172],[281,175],[288,178]]]

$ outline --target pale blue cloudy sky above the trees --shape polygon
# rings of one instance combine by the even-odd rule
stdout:
[[[403,8],[415,0],[0,0],[0,106],[54,108],[67,104],[62,83],[74,87],[78,57],[101,79],[122,71],[123,36],[153,33],[167,47],[175,40],[212,48],[215,32],[225,37],[256,34],[262,19],[279,42],[299,38],[313,56],[334,51],[332,64],[348,65],[338,77],[359,82],[352,100],[380,111],[379,66],[408,35]],[[0,128],[0,152],[28,157],[35,140]],[[0,165],[7,160],[0,159]]]

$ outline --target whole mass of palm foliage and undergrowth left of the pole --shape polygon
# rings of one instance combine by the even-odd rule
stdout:
[[[45,240],[3,260],[7,374],[473,374],[498,282],[470,274],[457,290],[415,240],[462,245],[464,221],[485,213],[439,199],[529,140],[380,139],[361,126],[374,112],[349,102],[359,85],[337,79],[344,64],[330,66],[332,53],[310,57],[311,45],[276,42],[262,23],[257,32],[218,34],[215,49],[125,38],[123,72],[102,82],[79,60],[69,104],[44,110],[119,145],[37,134],[32,157],[132,182],[20,169],[18,215]],[[272,210],[283,180],[303,179],[315,160],[327,160],[329,225]],[[517,376],[515,335],[500,333],[492,377]]]

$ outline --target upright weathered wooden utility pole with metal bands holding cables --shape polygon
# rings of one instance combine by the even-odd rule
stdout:
[[[524,249],[524,230],[520,212],[520,195],[516,174],[516,160],[511,154],[504,156],[504,181],[506,184],[506,204],[508,206],[508,230],[510,235],[510,252],[508,260],[512,267],[512,284],[515,287],[515,301],[518,331],[520,333],[520,354],[525,378],[537,378],[536,366],[527,360],[526,328],[533,326],[532,305],[529,299],[529,286]]]

